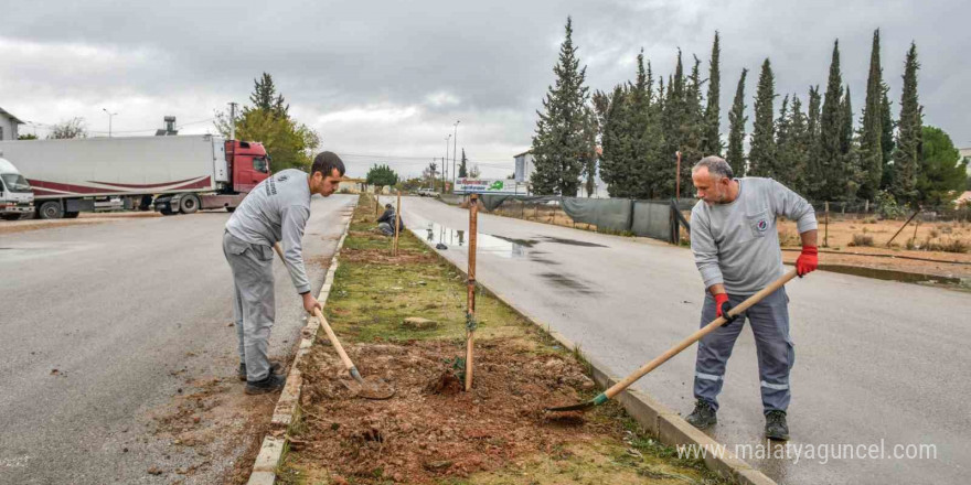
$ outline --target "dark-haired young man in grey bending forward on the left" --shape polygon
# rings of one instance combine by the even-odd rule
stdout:
[[[310,174],[290,169],[260,182],[226,223],[223,254],[233,270],[236,334],[239,337],[241,380],[246,394],[271,392],[286,378],[278,365],[270,366],[267,345],[274,324],[273,246],[281,241],[284,259],[303,309],[312,312],[320,303],[310,294],[303,268],[301,239],[310,218],[310,196],[333,194],[344,175],[344,163],[332,152],[313,159]]]

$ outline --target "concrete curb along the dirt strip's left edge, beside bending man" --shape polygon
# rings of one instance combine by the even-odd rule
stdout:
[[[354,209],[358,208],[356,201]],[[344,239],[348,238],[348,231],[351,228],[351,222],[354,220],[353,212],[348,217],[348,224],[338,241],[333,258],[330,260],[330,267],[323,279],[323,285],[320,288],[320,294],[317,301],[327,304],[327,298],[330,295],[330,289],[333,285],[334,273],[338,270],[338,256],[341,248],[344,247]],[[303,376],[298,368],[300,359],[310,352],[313,340],[317,337],[317,331],[320,328],[320,321],[316,316],[307,319],[307,326],[300,330],[300,346],[297,347],[297,355],[294,363],[290,364],[290,373],[287,375],[287,384],[284,386],[277,406],[274,408],[273,419],[270,420],[270,430],[263,439],[263,445],[259,448],[259,454],[253,464],[253,473],[249,474],[247,485],[274,485],[277,479],[277,466],[282,461],[284,453],[287,450],[287,431],[290,425],[297,422],[300,413],[300,391],[303,388]]]

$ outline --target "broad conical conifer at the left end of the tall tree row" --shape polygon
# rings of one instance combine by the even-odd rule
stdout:
[[[553,67],[556,84],[543,99],[544,112],[537,111],[533,157],[536,166],[531,182],[537,194],[576,196],[584,170],[583,153],[588,150],[584,136],[587,119],[588,88],[584,85],[587,68],[579,67],[573,44],[573,20],[566,20],[566,39],[559,46],[559,60]]]

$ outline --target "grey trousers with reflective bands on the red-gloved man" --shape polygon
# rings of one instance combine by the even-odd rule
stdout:
[[[750,295],[728,295],[733,306]],[[754,304],[727,328],[721,326],[705,335],[698,343],[695,362],[694,397],[709,402],[718,409],[718,394],[725,381],[725,365],[732,356],[735,340],[741,332],[745,320],[755,334],[758,355],[759,380],[761,384],[762,411],[789,408],[789,370],[796,363],[796,348],[789,337],[789,297],[780,288]],[[705,292],[701,325],[705,326],[716,317],[715,299]]]

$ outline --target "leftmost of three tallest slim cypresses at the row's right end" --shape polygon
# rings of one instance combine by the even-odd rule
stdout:
[[[830,63],[830,77],[826,95],[820,116],[820,175],[818,196],[823,200],[841,198],[844,194],[842,181],[843,151],[843,80],[840,74],[840,41],[833,44],[833,58]]]

